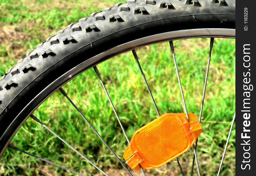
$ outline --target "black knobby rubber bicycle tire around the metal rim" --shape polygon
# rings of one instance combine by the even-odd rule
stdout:
[[[62,74],[117,45],[195,28],[235,29],[235,0],[130,0],[82,18],[47,38],[0,79],[0,158],[38,104],[21,110]]]

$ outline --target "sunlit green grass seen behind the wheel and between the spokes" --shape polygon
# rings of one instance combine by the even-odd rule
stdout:
[[[119,0],[103,1],[7,1],[0,2],[0,37],[14,29],[10,40],[0,41],[0,76],[49,35],[65,28],[94,11],[117,4]],[[8,31],[8,30],[7,30]],[[9,30],[10,31],[10,30]],[[24,37],[20,37],[24,35]],[[6,35],[4,35],[6,36]],[[187,108],[199,116],[209,52],[209,39],[174,41],[179,73]],[[184,112],[169,43],[159,43],[137,50],[142,69],[161,114]],[[103,62],[98,66],[117,113],[129,138],[135,130],[157,117],[142,76],[131,52]],[[95,72],[91,69],[76,77],[64,89],[84,115],[122,157],[127,141]],[[216,175],[235,111],[235,40],[216,39],[205,97],[198,157],[203,175]],[[104,170],[119,170],[106,146],[97,138],[69,102],[56,92],[34,113],[79,151]],[[83,174],[97,172],[85,160],[69,150],[46,129],[29,119],[14,137],[12,144],[35,155],[72,168]],[[189,170],[193,152],[179,157],[183,169]],[[165,172],[162,171],[168,168]],[[196,170],[196,167],[195,167]],[[121,172],[121,171],[120,171]],[[177,162],[152,170],[152,175],[177,174]],[[2,175],[70,175],[39,160],[11,149],[0,161]],[[57,174],[58,173],[58,174]],[[235,125],[222,167],[222,175],[235,174]]]

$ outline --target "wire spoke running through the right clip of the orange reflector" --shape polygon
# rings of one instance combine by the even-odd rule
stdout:
[[[186,101],[185,101],[185,98],[184,98],[184,94],[183,94],[183,90],[182,90],[182,85],[181,85],[181,81],[180,81],[180,77],[179,77],[179,70],[178,70],[178,66],[177,66],[177,62],[176,62],[176,57],[175,57],[175,54],[174,54],[173,42],[172,42],[172,41],[169,41],[169,44],[170,44],[170,48],[171,48],[171,51],[172,51],[172,57],[173,57],[173,60],[174,60],[174,65],[175,65],[175,69],[176,69],[176,74],[177,74],[177,78],[178,78],[178,82],[179,82],[179,89],[180,89],[181,96],[182,96],[182,101],[183,101],[183,105],[184,105],[184,110],[185,110],[187,119],[188,119],[188,121],[189,121],[189,116],[188,116],[188,114],[187,114]],[[197,164],[198,175],[201,176],[200,167],[199,167],[199,163],[198,163],[198,159],[197,159],[197,153],[196,153],[195,145],[194,145],[194,144],[193,144],[193,150],[194,150],[195,160],[196,160],[196,164]]]

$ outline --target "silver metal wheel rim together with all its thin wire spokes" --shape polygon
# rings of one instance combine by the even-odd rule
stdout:
[[[50,97],[54,92],[56,92],[57,90],[60,90],[61,93],[71,102],[71,104],[79,111],[79,113],[81,114],[81,116],[84,117],[84,119],[87,121],[87,123],[91,126],[91,124],[89,123],[89,121],[86,119],[86,117],[82,114],[82,112],[77,108],[77,106],[72,102],[71,99],[69,99],[69,97],[67,96],[67,93],[61,88],[64,84],[66,84],[67,82],[71,81],[74,77],[82,74],[83,72],[85,72],[86,70],[90,69],[90,68],[94,68],[95,72],[97,73],[98,77],[99,77],[99,80],[104,88],[104,91],[109,99],[109,102],[110,104],[112,105],[112,108],[116,114],[116,117],[117,117],[117,120],[122,128],[122,131],[124,133],[124,136],[126,137],[127,139],[127,142],[129,143],[129,138],[127,137],[126,135],[126,132],[124,131],[123,127],[122,127],[122,123],[119,119],[119,116],[117,114],[117,112],[115,111],[115,108],[114,108],[114,105],[111,101],[111,98],[109,97],[108,95],[108,92],[107,92],[107,89],[106,87],[104,86],[103,84],[103,81],[102,81],[102,78],[100,77],[100,74],[99,74],[99,71],[96,67],[97,64],[101,63],[101,62],[104,62],[105,60],[108,60],[109,58],[115,56],[115,55],[119,55],[119,54],[122,54],[122,53],[125,53],[125,52],[128,52],[130,50],[132,50],[133,54],[134,54],[134,57],[137,61],[137,64],[139,66],[139,69],[142,73],[142,77],[145,81],[145,84],[147,86],[147,89],[149,91],[149,94],[150,94],[150,97],[152,98],[152,101],[154,103],[154,106],[155,106],[155,109],[157,111],[157,114],[160,116],[160,113],[157,109],[157,105],[154,101],[154,98],[153,98],[153,95],[150,91],[150,88],[149,88],[149,84],[147,83],[147,80],[145,78],[145,75],[142,71],[142,68],[139,64],[139,60],[138,60],[138,57],[137,57],[137,54],[136,54],[136,51],[135,49],[136,48],[139,48],[139,47],[143,47],[143,46],[146,46],[146,45],[150,45],[150,44],[154,44],[154,43],[159,43],[159,42],[164,42],[164,41],[170,41],[170,48],[171,48],[171,51],[172,51],[172,57],[173,57],[173,60],[174,60],[174,63],[175,63],[175,68],[176,68],[176,73],[177,73],[177,78],[178,78],[178,82],[179,82],[179,86],[180,86],[180,91],[181,91],[181,95],[182,95],[182,100],[183,100],[183,104],[184,104],[184,109],[185,109],[185,113],[187,114],[187,108],[186,108],[186,103],[185,103],[185,99],[184,99],[184,95],[183,95],[183,91],[182,91],[182,84],[181,84],[181,81],[180,81],[180,78],[179,78],[179,71],[178,71],[178,67],[177,67],[177,63],[176,63],[176,58],[175,58],[175,54],[174,54],[174,47],[173,47],[173,44],[172,44],[172,40],[180,40],[180,39],[187,39],[187,38],[211,38],[211,42],[213,44],[213,39],[214,38],[235,38],[235,29],[219,29],[219,28],[209,28],[209,29],[192,29],[192,30],[182,30],[182,31],[173,31],[173,32],[167,32],[167,33],[162,33],[162,34],[157,34],[157,35],[152,35],[152,36],[148,36],[148,37],[144,37],[144,38],[141,38],[141,39],[137,39],[137,40],[134,40],[134,41],[131,41],[131,42],[128,42],[128,43],[124,43],[122,45],[119,45],[119,46],[116,46],[114,48],[112,48],[111,50],[108,50],[108,51],[105,51],[99,55],[96,55],[92,58],[90,58],[89,60],[86,60],[84,61],[83,63],[79,64],[78,66],[74,67],[73,69],[69,70],[68,72],[66,72],[65,74],[63,74],[61,77],[59,77],[58,79],[56,79],[54,82],[52,82],[49,86],[47,86],[43,91],[41,91],[28,105],[26,105],[26,107],[28,106],[31,106],[31,104],[37,104],[37,106],[34,108],[33,111],[31,111],[31,113],[29,114],[29,116],[48,98]],[[209,52],[209,59],[208,59],[208,65],[207,65],[207,71],[206,71],[206,75],[205,75],[205,86],[204,86],[204,92],[203,92],[203,98],[202,98],[202,104],[201,104],[201,110],[200,110],[200,117],[199,119],[201,120],[201,117],[202,117],[202,109],[203,109],[203,103],[204,103],[204,97],[205,97],[205,90],[206,90],[206,84],[207,84],[207,77],[208,77],[208,71],[209,71],[209,65],[210,65],[210,58],[211,58],[211,52],[212,52],[212,47],[210,46],[210,52]],[[44,97],[43,101],[40,100],[40,97]],[[24,111],[26,109],[26,107],[22,110]],[[22,111],[19,113],[19,115],[22,113]],[[18,116],[19,116],[18,115]],[[17,116],[17,117],[18,117]],[[29,118],[29,116],[26,117],[26,119],[21,123],[21,125],[19,126],[19,128],[22,126],[22,124]],[[33,115],[32,115],[33,116]],[[16,117],[16,118],[17,118]],[[34,118],[33,118],[34,117]],[[51,131],[50,128],[48,128],[45,124],[43,124],[42,122],[39,121],[39,119],[37,119],[35,116],[33,116],[32,118],[34,120],[36,120],[37,122],[41,123],[42,126],[44,126],[47,130],[49,130],[51,133],[53,133],[55,136],[58,137],[58,135],[56,133],[54,133],[53,131]],[[188,117],[188,115],[187,115]],[[218,174],[220,174],[220,170],[221,170],[221,166],[222,166],[222,163],[223,163],[223,160],[224,160],[224,157],[225,157],[225,152],[227,150],[227,144],[228,144],[228,141],[229,141],[229,138],[230,138],[230,134],[232,132],[232,126],[234,124],[234,121],[235,121],[235,115],[233,117],[233,120],[232,120],[232,125],[230,127],[230,132],[229,132],[229,135],[227,137],[227,143],[226,143],[226,146],[225,146],[225,149],[224,149],[224,152],[223,152],[223,155],[222,155],[222,160],[221,160],[221,163],[220,163],[220,167],[219,167],[219,171],[218,171]],[[92,126],[91,126],[92,127]],[[9,142],[6,144],[5,146],[5,149],[7,148],[7,146],[9,145],[9,143],[11,142],[12,138],[14,137],[14,135],[16,134],[16,132],[19,130],[19,128],[15,131],[15,133],[12,135],[12,137],[9,139]],[[92,127],[93,128],[93,127]],[[94,129],[94,132],[97,133],[97,131]],[[98,135],[98,134],[97,134]],[[99,135],[98,135],[99,136]],[[99,136],[101,138],[101,136]],[[62,138],[58,137],[61,141],[63,141],[65,144],[69,145],[66,141],[64,141]],[[102,138],[102,141],[104,142],[104,139]],[[107,145],[105,143],[105,145]],[[108,146],[108,145],[107,145]],[[24,150],[21,150],[19,148],[16,148],[15,146],[9,146],[10,148],[13,148],[15,150],[19,150],[23,153],[25,153],[26,151]],[[72,148],[74,151],[76,151],[76,149],[74,149],[72,146],[69,146],[70,148]],[[198,175],[201,175],[200,174],[200,166],[199,166],[199,162],[197,160],[197,155],[196,155],[196,147],[197,147],[197,142],[195,143],[195,145],[193,146],[194,147],[194,160],[196,161],[196,164],[197,164],[197,171],[198,171]],[[110,147],[108,147],[109,150],[111,151],[112,149]],[[4,151],[1,151],[1,154],[0,154],[0,157],[3,155]],[[116,155],[114,153],[114,151],[112,151],[112,153],[114,155]],[[28,153],[26,153],[28,154]],[[85,160],[87,160],[89,163],[91,163],[92,165],[94,165],[94,167],[96,167],[100,172],[102,172],[104,175],[107,175],[103,170],[101,170],[100,168],[98,168],[95,164],[93,164],[91,161],[89,161],[84,155],[82,155],[81,153],[78,152],[79,155],[81,155]],[[33,156],[31,154],[31,156]],[[34,156],[35,157],[35,156]],[[39,158],[40,157],[37,157],[36,158]],[[119,159],[116,155],[116,158]],[[43,158],[42,158],[43,159]],[[43,159],[44,160],[44,159]],[[45,160],[44,160],[45,161]],[[47,160],[46,160],[47,162]],[[122,161],[119,160],[119,162],[122,164]],[[179,164],[179,160],[177,159],[177,162]],[[193,161],[194,163],[194,161]],[[51,163],[52,164],[52,163]],[[58,165],[57,165],[58,166]],[[60,166],[61,167],[61,166]],[[125,165],[123,165],[123,167],[127,170],[127,172],[129,173],[129,175],[132,175],[131,172],[126,168]],[[181,173],[184,175],[183,171],[182,171],[182,167],[181,165],[179,164],[179,167],[181,169]],[[63,168],[63,167],[61,167]],[[192,172],[193,172],[193,166],[192,166]],[[63,168],[63,169],[66,169],[66,170],[69,170],[68,168]],[[142,170],[142,168],[141,168]],[[72,172],[72,170],[69,170]],[[77,172],[74,171],[74,173],[76,174],[79,174]],[[143,175],[145,175],[144,171],[142,170],[142,173]],[[80,175],[80,174],[79,174]]]

